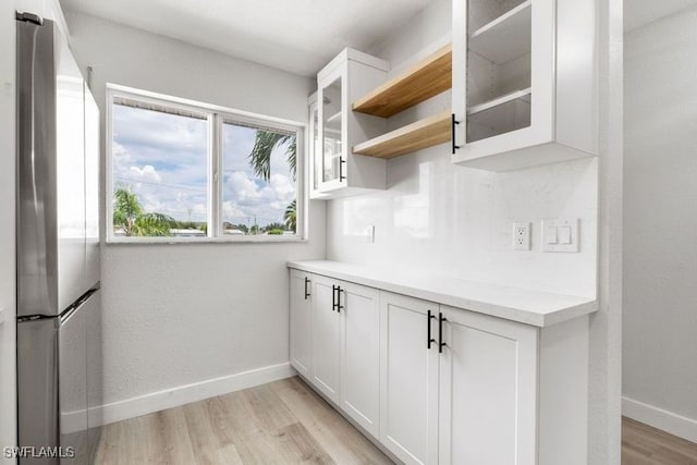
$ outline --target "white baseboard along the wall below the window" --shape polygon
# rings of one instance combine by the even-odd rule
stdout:
[[[106,404],[95,408],[94,417],[101,417],[101,424],[109,425],[192,402],[203,401],[204,399],[216,395],[290,378],[295,374],[295,370],[289,363],[272,365]]]

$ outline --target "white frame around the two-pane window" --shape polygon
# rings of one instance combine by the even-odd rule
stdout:
[[[113,234],[113,119],[112,107],[114,97],[130,98],[133,100],[176,107],[196,113],[208,115],[208,218],[209,228],[206,237],[126,237]],[[223,235],[221,215],[222,183],[219,182],[219,173],[222,170],[222,127],[223,120],[233,120],[241,123],[267,125],[281,131],[291,131],[297,134],[297,158],[296,158],[296,224],[295,235]],[[107,108],[106,108],[106,188],[105,188],[105,211],[106,211],[106,243],[107,244],[220,244],[220,243],[243,243],[243,244],[278,244],[278,243],[304,243],[308,241],[309,219],[308,203],[309,195],[306,180],[307,163],[305,162],[307,123],[285,120],[281,118],[267,117],[248,111],[235,110],[210,103],[203,103],[180,97],[156,94],[148,90],[125,87],[117,84],[107,84]]]

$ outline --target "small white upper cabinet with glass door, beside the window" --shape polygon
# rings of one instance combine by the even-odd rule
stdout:
[[[378,117],[354,113],[351,103],[382,83],[388,69],[386,61],[347,48],[318,73],[317,131],[320,140],[310,148],[310,164],[318,174],[318,185],[313,188],[311,198],[384,189],[386,161],[354,155],[352,147],[384,133],[387,122]]]

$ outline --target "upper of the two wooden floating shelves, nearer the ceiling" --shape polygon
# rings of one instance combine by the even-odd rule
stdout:
[[[452,87],[452,44],[353,103],[353,111],[392,117]]]

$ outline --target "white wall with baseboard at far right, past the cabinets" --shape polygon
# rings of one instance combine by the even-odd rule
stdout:
[[[693,441],[696,23],[694,7],[633,30],[625,36],[624,61],[624,413]]]

